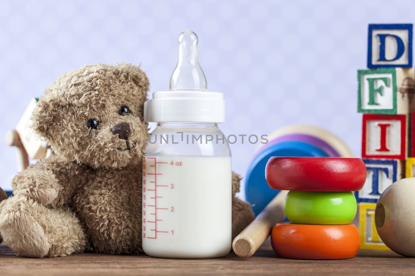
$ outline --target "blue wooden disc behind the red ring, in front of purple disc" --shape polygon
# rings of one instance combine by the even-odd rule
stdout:
[[[279,192],[272,190],[265,180],[265,166],[271,156],[327,157],[328,154],[316,146],[300,141],[284,141],[264,148],[252,161],[245,177],[245,196],[247,202],[254,205],[252,210],[255,215],[258,215]]]

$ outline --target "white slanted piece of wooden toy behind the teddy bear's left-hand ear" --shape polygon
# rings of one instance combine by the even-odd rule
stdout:
[[[20,118],[19,122],[16,126],[16,131],[22,140],[22,144],[24,149],[27,151],[27,154],[32,159],[39,159],[46,157],[47,148],[45,146],[45,142],[42,141],[36,133],[30,128],[32,125],[32,120],[30,117],[32,116],[32,112],[36,107],[38,99],[33,98],[30,101],[29,105],[27,106],[26,110]]]

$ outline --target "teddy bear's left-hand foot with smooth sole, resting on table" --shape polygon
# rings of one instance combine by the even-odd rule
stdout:
[[[18,255],[41,258],[49,252],[49,242],[38,223],[37,202],[26,197],[9,197],[0,206],[0,234]]]

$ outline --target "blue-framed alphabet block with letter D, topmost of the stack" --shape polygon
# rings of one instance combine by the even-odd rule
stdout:
[[[369,24],[367,67],[412,67],[412,24]]]

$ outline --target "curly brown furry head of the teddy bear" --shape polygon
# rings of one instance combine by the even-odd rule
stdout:
[[[32,120],[33,130],[50,142],[62,156],[70,156],[96,168],[122,168],[138,163],[147,141],[147,124],[143,122],[144,101],[149,81],[138,67],[121,63],[88,65],[64,74],[39,98]],[[128,106],[130,114],[118,111]],[[89,119],[99,121],[98,129],[88,129]],[[129,151],[126,141],[111,135],[119,122],[131,127]]]

